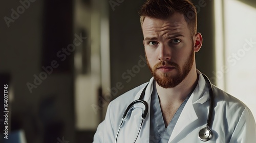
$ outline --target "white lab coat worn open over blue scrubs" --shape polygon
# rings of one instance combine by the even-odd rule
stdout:
[[[209,92],[202,74],[199,70],[197,72],[200,74],[198,85],[183,108],[168,143],[204,142],[198,138],[198,132],[206,127]],[[148,103],[149,109],[136,142],[154,142],[150,140],[150,103],[153,81],[152,78],[145,91],[144,100]],[[145,85],[146,83],[122,94],[109,104],[105,120],[98,126],[94,135],[95,143],[115,142],[124,110],[131,102],[139,99]],[[248,107],[216,86],[212,88],[215,100],[210,129],[213,135],[207,142],[256,142],[255,120]],[[141,107],[144,108],[142,105]],[[127,115],[117,142],[133,142],[140,121],[141,110],[136,108]]]

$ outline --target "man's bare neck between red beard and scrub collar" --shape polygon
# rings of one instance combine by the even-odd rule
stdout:
[[[156,83],[157,93],[162,102],[182,103],[197,84],[197,71],[193,66],[186,78],[174,88],[163,88]]]

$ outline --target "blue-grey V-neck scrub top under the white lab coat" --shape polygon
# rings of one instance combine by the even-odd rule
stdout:
[[[178,118],[184,108],[184,106],[187,103],[187,100],[191,96],[194,90],[192,90],[187,98],[184,100],[184,102],[180,105],[176,113],[174,114],[174,117],[170,121],[167,128],[165,128],[162,111],[158,99],[158,94],[156,90],[156,83],[153,82],[153,92],[151,95],[151,108],[150,108],[150,142],[168,142],[170,135],[172,134],[174,127],[178,121]]]

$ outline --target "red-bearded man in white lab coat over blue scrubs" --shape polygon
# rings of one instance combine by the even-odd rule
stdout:
[[[195,52],[202,46],[196,8],[188,0],[148,0],[139,13],[147,65],[153,75],[143,98],[148,113],[139,131],[145,106],[135,104],[117,137],[123,112],[139,99],[145,83],[109,104],[94,142],[203,142],[198,133],[206,127],[209,87],[195,63]],[[256,142],[249,108],[214,85],[212,91],[212,137],[207,142]]]

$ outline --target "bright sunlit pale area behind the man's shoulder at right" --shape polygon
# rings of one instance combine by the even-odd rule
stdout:
[[[223,13],[225,91],[244,102],[255,118],[256,8],[225,0]]]

